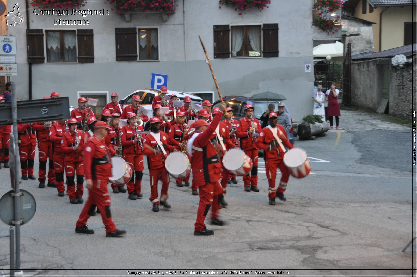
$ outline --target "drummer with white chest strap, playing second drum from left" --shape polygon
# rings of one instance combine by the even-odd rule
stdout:
[[[151,197],[149,200],[153,204],[152,211],[159,212],[159,204],[167,209],[171,208],[171,205],[166,201],[168,199],[169,177],[164,163],[169,152],[177,150],[168,144],[168,135],[160,131],[161,119],[153,117],[150,122],[151,132],[143,140],[143,154],[147,156],[149,176],[151,177]],[[161,200],[158,199],[158,180],[162,182]]]

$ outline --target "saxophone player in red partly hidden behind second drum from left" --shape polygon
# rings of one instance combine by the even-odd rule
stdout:
[[[169,144],[171,144],[175,149],[178,151],[186,149],[186,143],[184,144],[184,128],[185,128],[185,114],[184,112],[180,111],[177,113],[177,117],[175,118],[175,124],[171,126],[171,129],[168,133],[168,141]],[[183,186],[182,181],[184,181],[184,186],[189,186],[190,182],[190,175],[186,176],[183,179],[176,179],[177,186]]]

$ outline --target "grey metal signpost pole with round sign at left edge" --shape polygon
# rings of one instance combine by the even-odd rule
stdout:
[[[12,82],[12,122],[13,122],[13,136],[16,148],[18,149],[18,102],[16,100],[16,84]],[[17,152],[17,151],[15,151]],[[15,153],[16,154],[16,153]],[[16,157],[16,155],[15,155]],[[19,189],[19,159],[15,159],[15,234],[16,234],[16,266],[15,269],[20,270],[20,189]]]

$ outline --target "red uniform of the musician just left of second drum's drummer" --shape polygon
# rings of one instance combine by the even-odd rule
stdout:
[[[131,127],[130,124],[123,126],[121,133],[121,141],[123,145],[123,159],[132,167],[132,177],[126,184],[128,193],[139,194],[142,190],[143,176],[143,152],[139,143],[135,144],[135,132],[143,131],[142,126]],[[143,142],[143,136],[142,136]],[[133,183],[134,181],[134,183]]]

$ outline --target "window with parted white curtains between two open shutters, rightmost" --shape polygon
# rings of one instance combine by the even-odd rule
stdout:
[[[231,57],[260,57],[261,25],[231,26]]]

